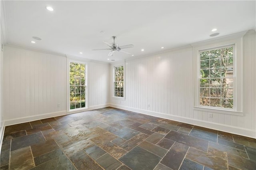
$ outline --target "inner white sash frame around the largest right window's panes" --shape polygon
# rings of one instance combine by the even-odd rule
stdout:
[[[204,51],[211,51],[214,49],[222,49],[222,48],[227,48],[227,47],[233,47],[233,108],[224,108],[224,107],[215,107],[215,106],[205,106],[205,105],[200,105],[200,71],[201,71],[201,63],[200,63],[200,53],[204,52]],[[198,70],[197,70],[197,81],[198,81],[198,107],[201,108],[208,108],[208,109],[219,109],[219,110],[227,110],[227,111],[236,111],[236,81],[235,81],[235,77],[236,77],[236,44],[229,44],[229,45],[221,45],[221,46],[217,46],[217,47],[212,47],[212,48],[206,48],[206,49],[201,49],[198,50]],[[210,58],[209,58],[210,60]],[[210,66],[210,65],[209,65]],[[214,79],[218,79],[221,77],[214,77]],[[210,80],[211,78],[209,78]],[[211,87],[209,87],[209,90],[211,89]],[[210,97],[209,97],[210,99]],[[221,99],[221,97],[220,97]]]

